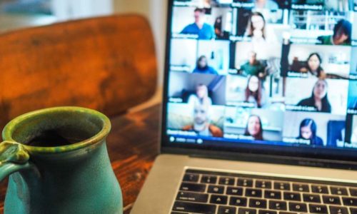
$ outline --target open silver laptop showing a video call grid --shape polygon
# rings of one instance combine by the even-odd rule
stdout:
[[[131,213],[357,213],[357,1],[169,1]]]

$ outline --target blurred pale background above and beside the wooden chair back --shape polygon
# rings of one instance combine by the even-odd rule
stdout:
[[[0,33],[91,16],[141,14],[154,31],[161,88],[166,4],[164,0],[0,0]]]

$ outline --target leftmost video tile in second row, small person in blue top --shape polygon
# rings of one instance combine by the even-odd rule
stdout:
[[[228,73],[228,41],[172,39],[171,50],[171,71],[216,75]]]

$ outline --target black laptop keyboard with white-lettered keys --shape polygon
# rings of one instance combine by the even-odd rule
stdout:
[[[357,214],[357,184],[186,170],[171,214]]]

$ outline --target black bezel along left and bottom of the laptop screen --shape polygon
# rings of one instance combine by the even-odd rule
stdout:
[[[161,106],[161,153],[174,153],[205,158],[221,158],[231,160],[247,160],[269,163],[293,163],[318,167],[337,167],[357,169],[357,150],[347,148],[312,148],[293,146],[262,145],[258,143],[226,143],[223,146],[212,146],[171,143],[167,131],[167,104],[169,103],[169,61],[171,46],[171,23],[174,0],[169,0],[166,19],[166,42],[164,60],[164,90]],[[234,146],[229,146],[235,144]]]

